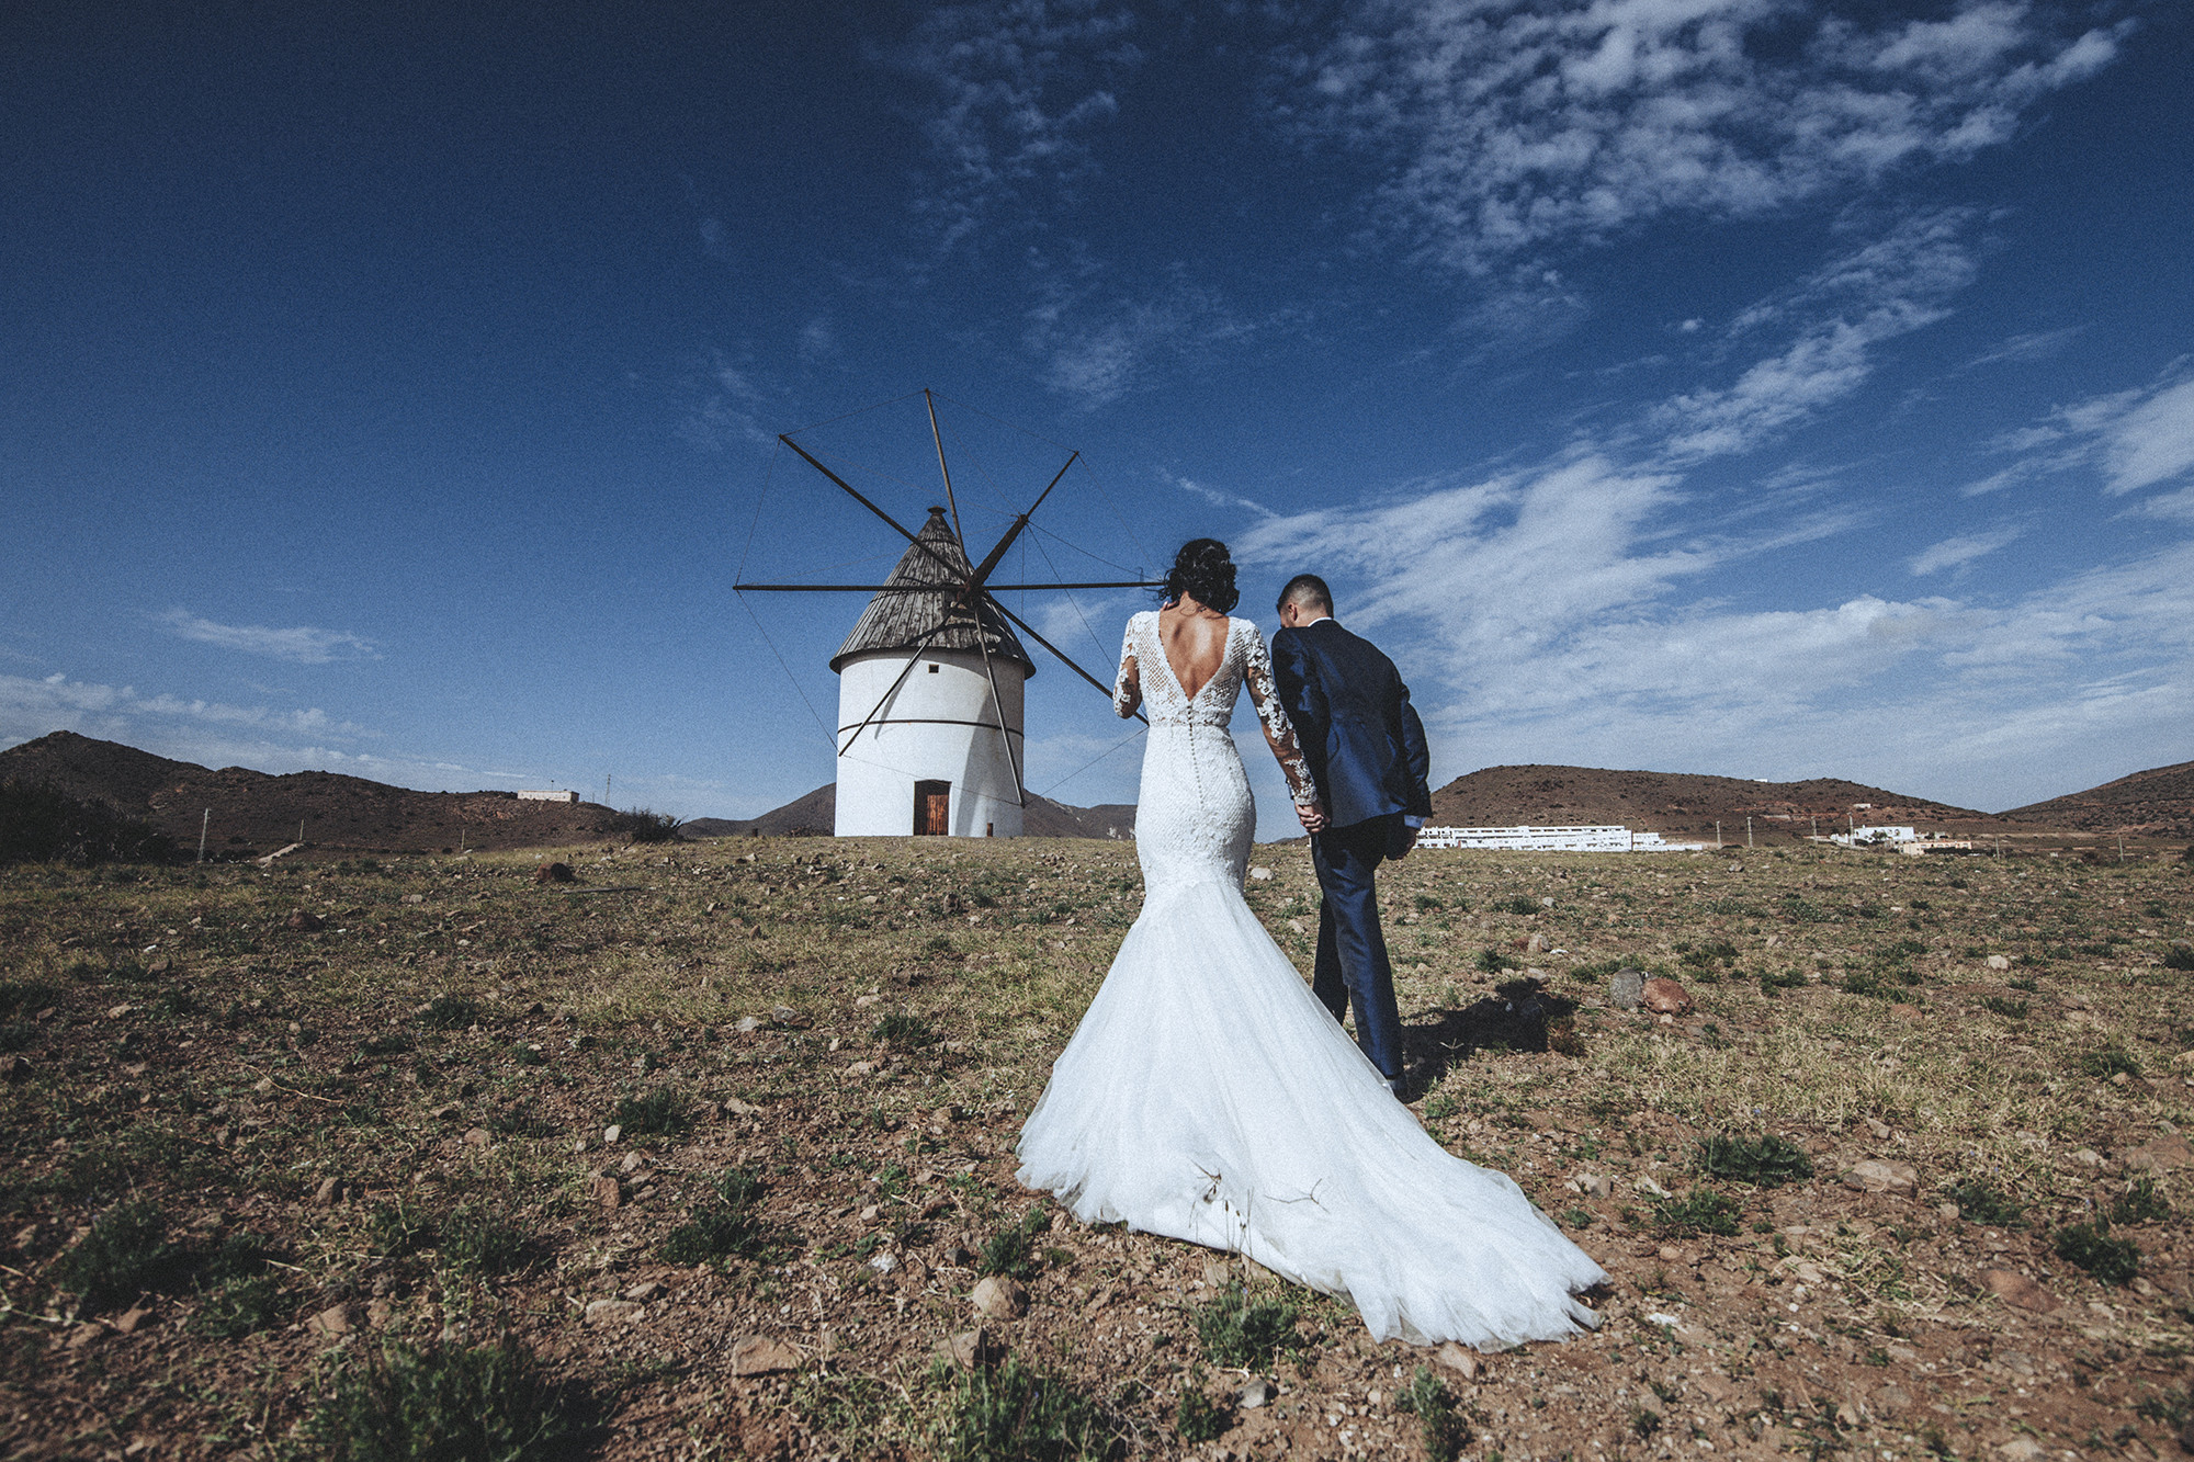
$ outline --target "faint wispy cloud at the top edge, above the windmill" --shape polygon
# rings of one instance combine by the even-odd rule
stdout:
[[[1084,136],[1119,110],[1141,66],[1136,18],[1101,0],[985,0],[926,13],[893,61],[928,79],[924,123],[939,178],[917,204],[939,250],[974,235],[1031,184],[1062,189],[1095,167]]]

